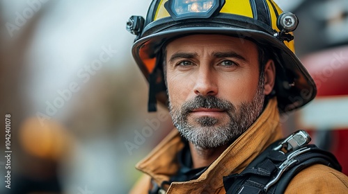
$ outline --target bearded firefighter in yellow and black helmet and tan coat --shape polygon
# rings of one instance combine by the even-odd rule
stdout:
[[[129,18],[132,54],[150,86],[148,110],[156,111],[158,100],[175,125],[136,165],[145,175],[131,193],[348,192],[334,158],[287,170],[299,161],[292,157],[312,147],[305,132],[279,141],[280,114],[306,105],[317,91],[294,54],[298,23],[272,0],[154,0],[146,19]],[[270,148],[274,142],[280,143]],[[271,161],[272,170],[262,167],[270,160],[247,168],[270,152],[286,157]],[[246,169],[270,177],[231,187]],[[280,178],[290,171],[292,179]]]

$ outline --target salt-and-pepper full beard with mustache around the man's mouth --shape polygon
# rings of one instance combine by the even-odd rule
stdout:
[[[169,109],[173,124],[187,141],[200,148],[218,148],[221,145],[230,144],[246,132],[262,112],[263,87],[262,79],[253,100],[237,107],[228,100],[215,96],[196,96],[185,102],[180,109],[170,103]],[[221,109],[228,114],[230,121],[227,124],[221,124],[217,118],[202,116],[194,120],[198,125],[189,123],[187,117],[193,109],[199,107]]]

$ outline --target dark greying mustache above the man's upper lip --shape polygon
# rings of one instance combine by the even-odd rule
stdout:
[[[235,106],[228,100],[217,98],[216,96],[196,96],[195,98],[185,102],[182,105],[182,114],[187,115],[193,112],[193,109],[207,108],[207,109],[221,109],[226,112],[234,112]]]

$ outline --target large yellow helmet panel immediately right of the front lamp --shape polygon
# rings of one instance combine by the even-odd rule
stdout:
[[[220,12],[253,18],[253,11],[251,10],[249,0],[226,1]]]

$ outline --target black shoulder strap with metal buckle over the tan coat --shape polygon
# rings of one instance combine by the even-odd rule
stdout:
[[[296,133],[272,143],[242,173],[223,177],[226,193],[284,193],[291,179],[313,164],[342,170],[334,155],[316,145],[308,145],[310,138],[305,142]],[[302,145],[299,141],[303,141]]]

